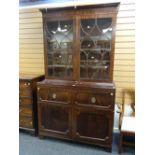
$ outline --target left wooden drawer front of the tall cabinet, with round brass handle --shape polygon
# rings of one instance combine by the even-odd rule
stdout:
[[[70,103],[71,92],[65,88],[38,87],[38,100],[48,102]]]

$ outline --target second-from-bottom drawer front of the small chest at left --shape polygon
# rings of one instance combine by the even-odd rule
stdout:
[[[32,117],[32,108],[31,107],[20,106],[19,107],[19,115],[20,116],[30,116],[30,117]]]

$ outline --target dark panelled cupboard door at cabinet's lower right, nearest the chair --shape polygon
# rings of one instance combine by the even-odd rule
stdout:
[[[77,107],[74,110],[74,138],[99,145],[112,142],[113,112]]]

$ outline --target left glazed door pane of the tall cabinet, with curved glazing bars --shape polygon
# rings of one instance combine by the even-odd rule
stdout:
[[[48,75],[72,78],[73,21],[46,23]]]

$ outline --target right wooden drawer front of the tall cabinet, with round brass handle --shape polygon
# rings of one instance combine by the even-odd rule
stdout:
[[[114,92],[112,91],[78,91],[75,94],[75,104],[99,105],[104,108],[114,107]]]

